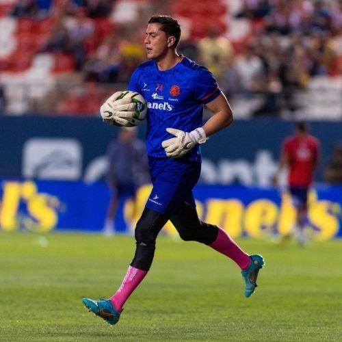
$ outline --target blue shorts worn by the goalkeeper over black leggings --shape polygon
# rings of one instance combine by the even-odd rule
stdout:
[[[172,214],[184,204],[196,207],[192,189],[200,178],[199,162],[148,157],[148,165],[153,188],[147,208]]]

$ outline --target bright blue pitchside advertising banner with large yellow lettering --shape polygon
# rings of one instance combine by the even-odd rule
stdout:
[[[135,201],[123,198],[116,217],[117,233],[133,233],[151,185],[138,189]],[[217,224],[233,237],[287,235],[295,222],[285,190],[243,185],[197,185],[194,189],[202,220]],[[2,179],[0,231],[82,231],[101,233],[110,192],[104,182],[28,181]],[[311,190],[306,232],[313,239],[342,237],[342,186]],[[170,222],[163,231],[175,234]]]

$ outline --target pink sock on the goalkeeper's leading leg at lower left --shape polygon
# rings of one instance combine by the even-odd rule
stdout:
[[[147,271],[142,271],[142,269],[137,269],[135,267],[129,266],[127,269],[126,276],[124,276],[124,280],[118,291],[114,295],[109,298],[111,303],[113,304],[116,311],[119,313],[122,311],[122,306],[124,306],[124,302],[129,298],[131,293],[135,290],[137,285],[142,282],[145,278]]]

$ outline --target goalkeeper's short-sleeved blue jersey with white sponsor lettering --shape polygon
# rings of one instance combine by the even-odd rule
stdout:
[[[146,149],[150,157],[157,158],[166,157],[161,142],[174,137],[166,129],[189,132],[201,127],[205,103],[220,95],[213,74],[186,57],[165,71],[157,68],[155,60],[140,64],[131,76],[128,89],[146,98]],[[200,161],[199,145],[184,158]]]

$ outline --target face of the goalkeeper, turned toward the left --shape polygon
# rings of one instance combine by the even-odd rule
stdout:
[[[168,37],[164,31],[161,31],[160,24],[148,24],[145,36],[145,47],[147,57],[158,59],[165,55],[168,50]]]

